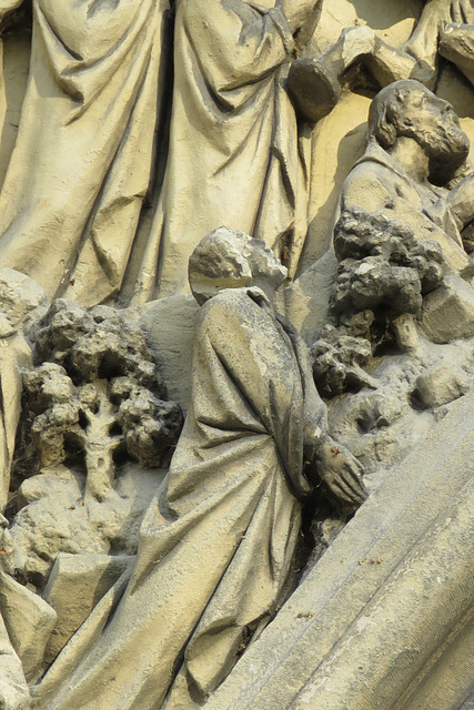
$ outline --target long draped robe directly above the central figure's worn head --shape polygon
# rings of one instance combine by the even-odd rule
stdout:
[[[191,253],[223,225],[264,240],[294,274],[306,189],[284,85],[293,49],[278,8],[178,0],[169,160],[134,302],[188,292]]]

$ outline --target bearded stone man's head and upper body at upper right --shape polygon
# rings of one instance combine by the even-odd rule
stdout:
[[[341,212],[357,206],[400,220],[436,240],[460,271],[468,265],[460,232],[474,216],[473,174],[452,191],[443,185],[465,169],[468,149],[450,103],[417,81],[394,82],[371,104],[369,145],[343,183]]]

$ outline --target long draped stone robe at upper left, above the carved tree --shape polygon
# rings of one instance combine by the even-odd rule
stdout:
[[[122,285],[163,110],[169,0],[33,0],[30,75],[0,196],[0,268],[83,305]]]

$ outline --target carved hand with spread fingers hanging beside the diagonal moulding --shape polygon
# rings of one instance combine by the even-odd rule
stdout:
[[[317,474],[340,500],[359,508],[367,497],[362,465],[343,446],[326,438],[315,456]]]

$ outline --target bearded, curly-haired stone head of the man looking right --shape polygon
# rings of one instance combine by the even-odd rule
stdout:
[[[451,103],[413,79],[395,81],[377,93],[369,112],[369,136],[386,151],[400,136],[413,138],[430,156],[437,181],[448,180],[470,150]]]

